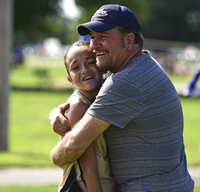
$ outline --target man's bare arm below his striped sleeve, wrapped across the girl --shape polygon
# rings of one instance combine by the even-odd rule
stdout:
[[[56,165],[75,161],[109,126],[110,123],[86,113],[52,150],[51,161]]]

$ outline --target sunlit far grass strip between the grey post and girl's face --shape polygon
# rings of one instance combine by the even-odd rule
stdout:
[[[17,88],[72,88],[68,82],[67,72],[63,67],[18,65],[11,69],[10,82]]]

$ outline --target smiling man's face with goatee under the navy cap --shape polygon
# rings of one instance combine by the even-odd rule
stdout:
[[[90,38],[90,47],[96,54],[97,67],[101,71],[118,72],[127,54],[119,32],[116,29],[104,33],[91,31]]]

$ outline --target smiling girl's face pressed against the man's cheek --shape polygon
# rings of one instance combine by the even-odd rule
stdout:
[[[103,73],[96,67],[96,58],[89,46],[75,46],[68,52],[66,63],[71,84],[82,92],[97,91],[103,82]]]

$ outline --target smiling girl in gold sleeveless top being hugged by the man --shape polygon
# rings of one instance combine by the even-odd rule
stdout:
[[[70,107],[65,111],[65,116],[72,127],[95,100],[103,83],[103,73],[96,68],[96,58],[89,44],[86,41],[75,42],[64,57],[68,72],[67,79],[76,87],[75,92],[67,101]],[[54,150],[52,150],[51,158],[54,155]],[[80,159],[59,166],[63,168],[59,192],[116,191],[116,182],[111,174],[103,134],[88,147]]]

